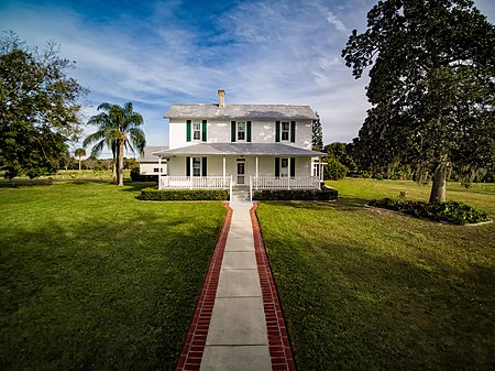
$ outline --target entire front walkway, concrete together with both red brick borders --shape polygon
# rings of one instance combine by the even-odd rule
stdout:
[[[257,204],[231,203],[176,371],[295,371]]]

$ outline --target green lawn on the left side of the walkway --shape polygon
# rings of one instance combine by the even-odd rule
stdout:
[[[0,370],[173,370],[221,203],[143,203],[139,185],[84,176],[9,184],[0,183]]]

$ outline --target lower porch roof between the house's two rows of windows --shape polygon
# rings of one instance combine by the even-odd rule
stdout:
[[[326,156],[327,153],[315,152],[279,143],[200,143],[179,149],[156,151],[155,156],[168,157],[194,155],[273,155],[273,156]]]

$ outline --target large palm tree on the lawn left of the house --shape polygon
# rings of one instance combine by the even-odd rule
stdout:
[[[101,103],[98,110],[105,112],[92,116],[88,124],[98,127],[98,131],[88,135],[84,146],[97,142],[91,150],[91,156],[98,156],[107,145],[112,150],[113,163],[117,159],[117,184],[123,186],[123,152],[124,149],[141,154],[144,152],[146,139],[144,132],[139,128],[143,124],[143,117],[134,112],[132,103],[127,102],[123,107],[119,105]]]

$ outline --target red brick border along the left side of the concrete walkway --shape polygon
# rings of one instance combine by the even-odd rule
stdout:
[[[189,330],[175,368],[176,371],[199,370],[199,365],[201,364],[215,297],[217,296],[220,266],[232,221],[232,209],[229,204],[224,203],[223,207],[227,209],[226,220],[223,221],[222,230],[220,231],[213,255],[211,257],[201,295],[196,304],[195,315],[189,325]]]

